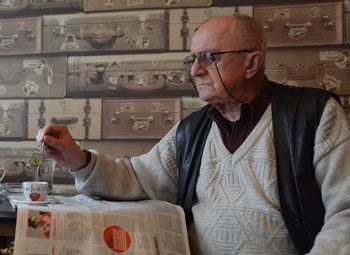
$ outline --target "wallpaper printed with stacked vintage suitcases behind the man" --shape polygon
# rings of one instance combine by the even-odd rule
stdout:
[[[350,0],[0,0],[4,181],[30,179],[50,123],[111,157],[147,152],[205,105],[182,63],[195,29],[235,12],[261,22],[271,80],[337,92],[350,118]]]

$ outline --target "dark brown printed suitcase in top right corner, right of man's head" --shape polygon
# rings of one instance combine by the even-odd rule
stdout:
[[[256,6],[268,47],[343,43],[343,3]]]

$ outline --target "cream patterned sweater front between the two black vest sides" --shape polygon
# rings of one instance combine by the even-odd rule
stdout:
[[[194,254],[296,254],[279,208],[273,148],[270,107],[234,154],[213,124],[192,209]]]

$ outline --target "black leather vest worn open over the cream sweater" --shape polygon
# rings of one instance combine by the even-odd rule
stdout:
[[[315,133],[323,109],[334,96],[315,88],[289,87],[271,82],[272,122],[278,190],[282,216],[300,254],[307,253],[324,223],[324,206],[316,183],[313,155]],[[187,226],[202,152],[212,119],[209,106],[180,122],[176,134],[179,183],[177,204],[184,208]]]

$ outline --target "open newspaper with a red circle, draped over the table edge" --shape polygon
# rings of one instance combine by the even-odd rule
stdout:
[[[55,198],[62,204],[17,204],[15,255],[190,254],[177,205]]]

